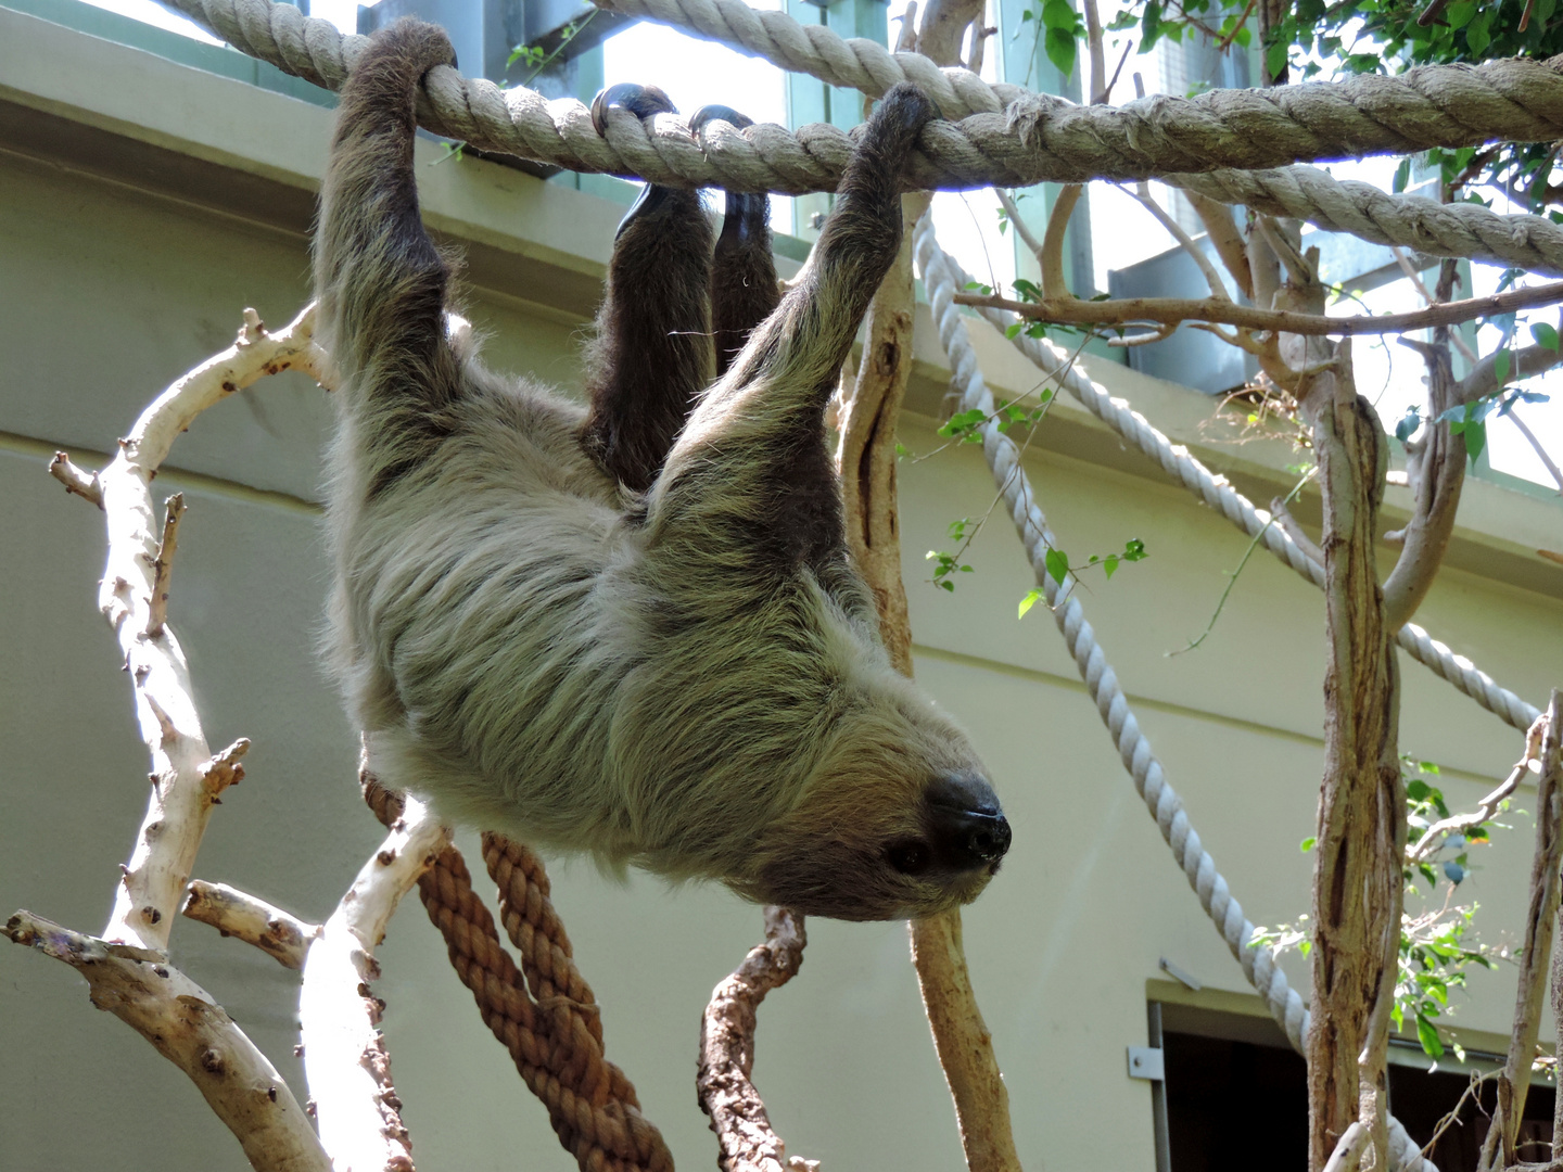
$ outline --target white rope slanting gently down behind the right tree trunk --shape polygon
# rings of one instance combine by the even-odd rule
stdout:
[[[964,288],[971,280],[967,273],[953,259],[947,263],[960,288]],[[1014,314],[1003,309],[980,308],[978,313],[1003,333],[1010,333],[1010,327],[1019,322]],[[1113,398],[1107,388],[1094,383],[1080,372],[1069,361],[1069,356],[1047,339],[1028,338],[1022,330],[1010,341],[1038,369],[1055,378],[1060,386],[1080,400],[1082,406],[1093,416],[1160,464],[1172,480],[1182,483],[1250,538],[1258,538],[1264,548],[1314,586],[1324,586],[1324,566],[1310,558],[1280,525],[1271,525],[1271,514],[1255,508],[1254,502],[1232,488],[1225,477],[1213,473],[1197,458],[1189,455],[1188,448],[1174,444],[1161,434],[1150,420],[1135,411],[1127,402]],[[1455,689],[1465,692],[1515,728],[1530,728],[1541,714],[1541,709],[1500,686],[1491,675],[1480,670],[1463,655],[1455,655],[1447,644],[1440,642],[1415,622],[1408,622],[1400,628],[1399,634],[1396,634],[1396,642],[1413,659],[1432,669],[1435,675],[1447,680]]]

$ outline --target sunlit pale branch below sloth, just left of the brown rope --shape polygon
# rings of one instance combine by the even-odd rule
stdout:
[[[380,977],[374,953],[391,914],[447,845],[450,831],[406,797],[380,850],[309,945],[299,995],[303,1069],[320,1142],[339,1169],[413,1172],[413,1142],[377,1028],[384,1002],[369,984]]]

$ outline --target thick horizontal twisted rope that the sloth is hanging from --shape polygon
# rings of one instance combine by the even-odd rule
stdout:
[[[736,3],[678,2],[708,3],[713,9]],[[341,86],[349,64],[363,52],[361,38],[342,36],[325,20],[272,0],[164,3],[250,56],[330,89]],[[727,11],[735,17],[738,9]],[[971,86],[950,81],[936,89],[964,100]],[[999,91],[994,95],[997,102]],[[681,188],[835,191],[852,150],[849,133],[824,123],[800,127],[796,134],[769,123],[742,131],[711,123],[697,141],[677,117],[641,122],[625,111],[610,113],[606,133],[599,136],[580,102],[547,102],[525,88],[502,91],[444,66],[428,73],[419,122],[483,150]],[[1496,138],[1563,138],[1563,73],[1516,58],[1424,66],[1393,78],[1222,89],[1194,98],[1149,97],[1118,108],[1075,106],[1032,94],[1002,113],[986,109],[960,122],[928,123],[903,181],[908,188],[964,189],[1138,180],[1463,147]]]

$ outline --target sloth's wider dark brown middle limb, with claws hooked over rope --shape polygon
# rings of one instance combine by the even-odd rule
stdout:
[[[610,86],[592,102],[636,117],[674,113],[655,86]],[[586,350],[583,444],[631,489],[650,488],[696,395],[711,381],[711,225],[692,191],[647,184],[619,225],[608,294]]]

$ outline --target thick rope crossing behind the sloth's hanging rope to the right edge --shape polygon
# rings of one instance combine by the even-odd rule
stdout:
[[[891,53],[877,41],[849,41],[825,25],[800,25],[786,13],[755,11],[742,0],[596,3],[686,28],[783,69],[835,86],[852,86],[871,97],[878,97],[897,81],[916,81],[947,117],[1000,113],[1021,100],[1044,100],[1055,109],[1077,109],[1061,98],[1038,98],[1019,86],[989,84],[969,69],[939,69],[917,53]],[[1202,167],[1196,173],[1168,173],[1161,180],[1222,203],[1243,203],[1271,216],[1296,216],[1327,231],[1352,233],[1374,244],[1397,244],[1433,256],[1471,256],[1563,275],[1563,227],[1541,216],[1499,216],[1474,203],[1441,205],[1418,195],[1388,195],[1366,183],[1343,183],[1316,167],[1260,172]]]

